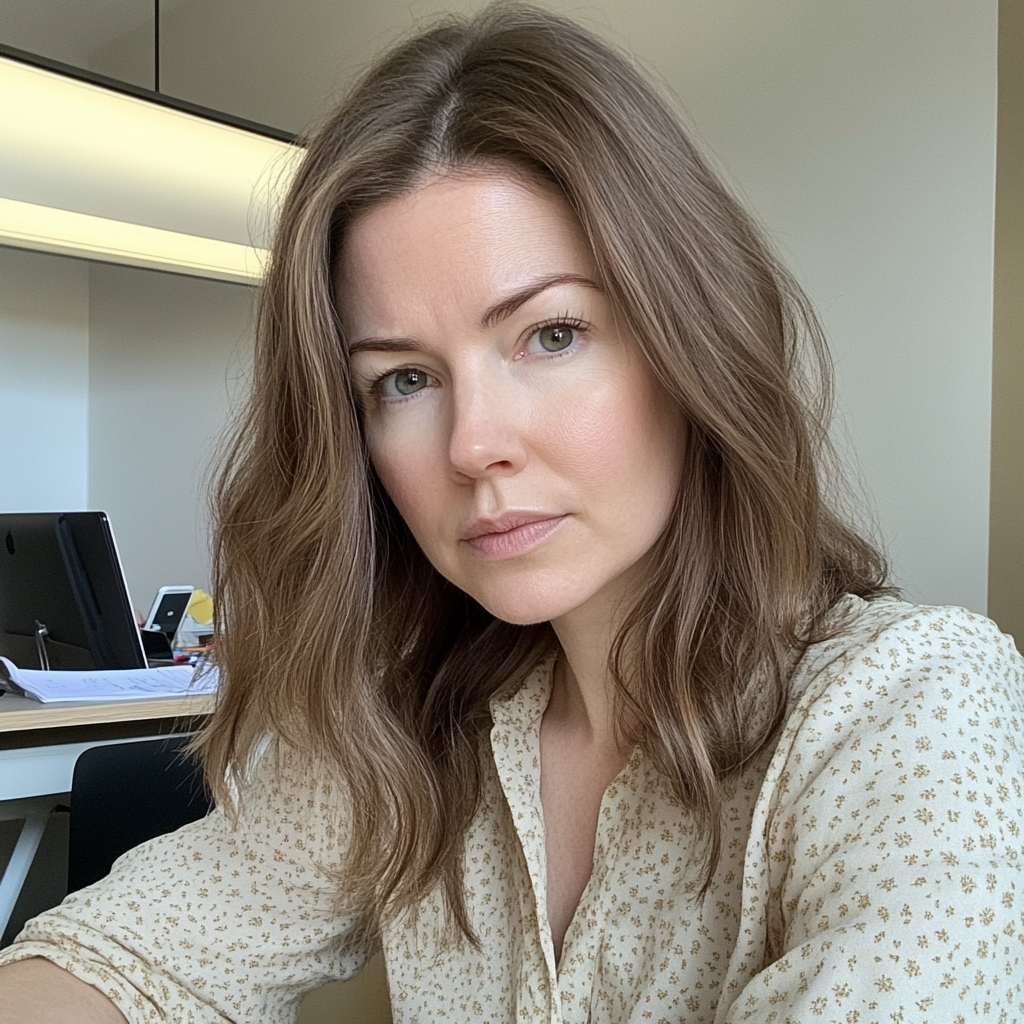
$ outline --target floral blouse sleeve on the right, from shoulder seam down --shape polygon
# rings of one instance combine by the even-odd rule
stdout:
[[[1021,668],[915,609],[812,682],[752,834],[769,952],[720,1022],[1024,1019]]]

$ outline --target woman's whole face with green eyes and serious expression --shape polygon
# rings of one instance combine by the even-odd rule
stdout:
[[[354,221],[337,295],[371,460],[436,569],[519,624],[626,596],[684,427],[564,201],[430,179]]]

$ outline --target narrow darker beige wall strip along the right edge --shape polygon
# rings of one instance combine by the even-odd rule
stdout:
[[[999,4],[988,612],[1024,643],[1024,4]]]

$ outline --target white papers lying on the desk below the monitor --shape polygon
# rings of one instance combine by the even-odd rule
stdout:
[[[44,703],[73,700],[144,700],[150,697],[213,693],[216,669],[187,665],[164,669],[114,669],[100,672],[40,672],[19,669],[0,657],[0,689],[24,693]]]

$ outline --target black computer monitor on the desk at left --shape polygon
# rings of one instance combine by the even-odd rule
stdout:
[[[105,513],[0,513],[0,654],[22,669],[145,668]]]

